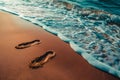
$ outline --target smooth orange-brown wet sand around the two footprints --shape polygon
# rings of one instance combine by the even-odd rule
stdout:
[[[89,65],[57,36],[5,12],[0,12],[0,38],[0,80],[119,80]],[[35,39],[41,43],[15,48]],[[52,60],[42,68],[29,68],[34,58],[48,50],[56,52]]]

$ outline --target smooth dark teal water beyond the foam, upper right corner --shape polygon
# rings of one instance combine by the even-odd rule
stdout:
[[[120,15],[120,0],[62,0]]]

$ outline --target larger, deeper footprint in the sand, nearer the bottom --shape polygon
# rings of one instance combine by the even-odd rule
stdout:
[[[43,67],[45,63],[49,61],[49,59],[52,59],[56,56],[56,53],[53,51],[47,51],[42,56],[35,58],[31,63],[29,64],[29,67],[32,69],[36,69],[39,67]]]

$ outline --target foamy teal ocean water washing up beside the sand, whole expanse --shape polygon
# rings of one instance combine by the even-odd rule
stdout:
[[[0,0],[0,10],[42,26],[120,78],[120,0]]]

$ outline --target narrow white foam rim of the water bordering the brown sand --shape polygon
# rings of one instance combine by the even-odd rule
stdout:
[[[19,14],[16,13],[16,12],[11,12],[11,11],[9,11],[9,10],[4,10],[4,9],[1,9],[1,11],[8,12],[8,13],[10,13],[10,14],[16,15],[16,16],[18,16],[18,17],[20,17],[20,18],[22,18],[22,19],[24,19],[24,20],[26,20],[26,21],[29,21],[29,22],[37,25],[37,26],[40,26],[40,27],[42,27],[43,29],[45,29],[46,31],[48,31],[48,32],[50,32],[50,33],[58,36],[61,40],[69,43],[70,47],[71,47],[75,52],[77,52],[78,54],[80,54],[85,60],[87,60],[87,62],[88,62],[89,64],[91,64],[92,66],[94,66],[94,67],[96,67],[96,68],[98,68],[98,69],[100,69],[100,70],[103,70],[103,71],[105,71],[105,72],[108,72],[108,73],[113,74],[114,76],[120,78],[120,71],[118,71],[118,70],[116,70],[116,69],[114,69],[114,68],[112,68],[112,67],[110,67],[110,66],[108,66],[108,65],[106,65],[106,64],[104,64],[104,63],[102,63],[102,62],[99,62],[99,61],[96,60],[93,56],[91,56],[90,54],[88,54],[88,53],[86,52],[86,50],[84,50],[83,48],[81,48],[81,47],[79,47],[78,45],[76,45],[72,40],[70,40],[69,38],[63,36],[61,33],[56,32],[55,30],[53,30],[53,29],[50,28],[50,27],[47,27],[47,26],[46,26],[45,24],[43,24],[43,23],[40,23],[40,22],[39,22],[39,24],[38,24],[38,23],[36,23],[36,22],[34,22],[34,21],[33,21],[33,22],[30,21],[29,18],[21,17],[21,16],[19,16]]]

